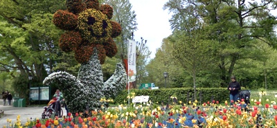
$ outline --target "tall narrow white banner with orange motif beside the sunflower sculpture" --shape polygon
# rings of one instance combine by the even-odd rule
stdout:
[[[136,42],[128,39],[128,82],[136,81]]]

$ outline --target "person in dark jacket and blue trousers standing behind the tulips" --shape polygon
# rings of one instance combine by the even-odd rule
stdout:
[[[238,93],[240,92],[240,83],[235,80],[235,76],[231,77],[228,90],[230,91],[230,104],[238,100]]]

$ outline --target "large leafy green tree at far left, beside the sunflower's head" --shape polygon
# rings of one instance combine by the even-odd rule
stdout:
[[[52,18],[60,8],[65,8],[63,0],[0,1],[0,49],[3,51],[0,66],[13,73],[16,79],[13,84],[17,85],[14,87],[25,98],[28,97],[28,75],[33,75],[33,82],[39,85],[53,71],[62,31],[53,25]]]

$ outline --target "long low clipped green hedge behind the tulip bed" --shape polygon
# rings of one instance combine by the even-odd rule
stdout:
[[[161,102],[169,103],[172,102],[170,96],[177,97],[177,101],[182,101],[187,104],[188,101],[194,100],[194,90],[193,88],[173,88],[173,89],[132,89],[131,93],[136,93],[136,96],[139,95],[149,95],[152,102]],[[202,93],[202,100],[200,102],[199,93]],[[215,101],[219,101],[220,103],[224,103],[225,100],[229,102],[229,91],[226,88],[197,88],[196,89],[197,101],[199,104],[203,102],[208,102],[213,99]],[[124,104],[124,100],[127,101],[128,91],[124,90],[114,99],[115,104]],[[187,100],[188,99],[188,100]],[[132,99],[130,100],[132,102]],[[193,102],[193,101],[192,101]]]

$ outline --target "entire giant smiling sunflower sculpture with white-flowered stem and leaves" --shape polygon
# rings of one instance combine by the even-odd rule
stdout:
[[[105,57],[114,57],[117,48],[113,37],[121,33],[120,24],[110,21],[113,8],[98,0],[66,0],[67,10],[57,10],[53,23],[62,30],[59,46],[62,51],[75,53],[81,64],[78,77],[66,72],[48,75],[44,84],[57,86],[63,91],[71,112],[99,109],[105,104],[100,98],[114,98],[125,88],[127,75],[122,64],[109,80],[103,82],[100,64]]]

